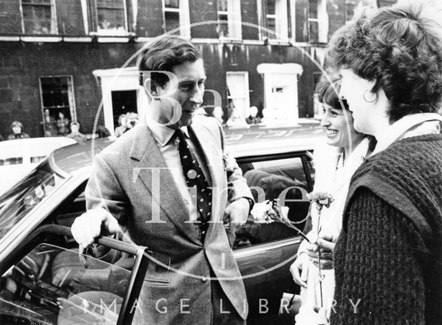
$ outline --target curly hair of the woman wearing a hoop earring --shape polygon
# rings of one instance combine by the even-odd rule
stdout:
[[[436,112],[442,98],[442,26],[423,3],[364,10],[332,37],[327,61],[376,79],[390,101],[390,121]]]

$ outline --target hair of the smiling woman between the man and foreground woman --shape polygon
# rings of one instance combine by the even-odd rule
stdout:
[[[326,71],[320,77],[319,82],[316,84],[316,93],[321,103],[325,103],[333,108],[342,110],[343,106],[339,101],[340,91],[340,76],[336,72]],[[342,99],[344,108],[348,110],[348,104],[345,99]]]

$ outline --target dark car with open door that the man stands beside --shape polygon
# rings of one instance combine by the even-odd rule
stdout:
[[[318,123],[226,134],[227,149],[256,200],[285,197],[299,228],[309,208],[304,194],[314,182],[311,150],[324,137]],[[86,210],[92,157],[111,142],[59,148],[0,197],[0,324],[138,324],[140,313],[132,311],[143,290],[167,285],[167,279],[149,278],[148,264],[155,261],[148,248],[101,237],[97,247],[112,249],[97,259],[79,254],[70,235],[75,217]],[[296,230],[251,215],[236,231],[233,254],[247,292],[249,324],[284,324],[278,311],[282,294],[299,290],[289,265],[301,239]],[[177,308],[157,304],[163,311]]]

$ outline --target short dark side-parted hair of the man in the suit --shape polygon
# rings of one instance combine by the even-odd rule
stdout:
[[[144,86],[144,71],[172,71],[172,68],[186,61],[195,62],[201,58],[198,48],[186,39],[174,35],[162,35],[146,45],[138,57],[140,85]],[[156,85],[164,86],[169,77],[164,73],[152,72],[151,90]]]

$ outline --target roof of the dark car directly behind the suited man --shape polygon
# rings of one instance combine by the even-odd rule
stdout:
[[[317,121],[296,126],[251,127],[225,130],[226,144],[235,157],[312,150],[325,132]],[[52,163],[65,173],[89,167],[93,156],[115,141],[106,137],[73,144],[52,152]]]

